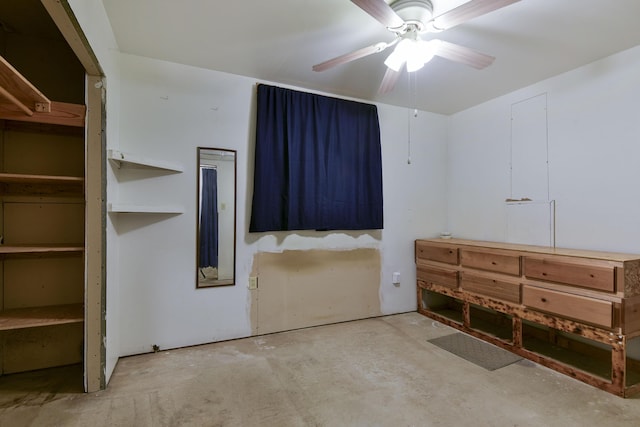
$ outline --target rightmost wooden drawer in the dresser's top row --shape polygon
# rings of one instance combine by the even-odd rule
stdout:
[[[574,264],[553,259],[525,257],[524,275],[531,279],[615,292],[615,269],[612,266]]]

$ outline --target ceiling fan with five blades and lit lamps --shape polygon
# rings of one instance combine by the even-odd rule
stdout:
[[[387,71],[380,84],[380,93],[393,89],[406,65],[407,72],[417,71],[435,55],[482,69],[493,62],[493,56],[485,55],[465,46],[439,39],[423,40],[425,33],[438,33],[470,19],[516,3],[520,0],[471,0],[442,15],[433,16],[431,0],[351,0],[362,10],[377,19],[391,31],[395,38],[340,55],[313,66],[314,71],[324,71],[395,46],[385,60]]]

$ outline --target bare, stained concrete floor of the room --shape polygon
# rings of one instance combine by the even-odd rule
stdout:
[[[640,426],[640,397],[528,361],[487,371],[427,342],[453,332],[407,313],[127,357],[93,394],[9,375],[0,426]]]

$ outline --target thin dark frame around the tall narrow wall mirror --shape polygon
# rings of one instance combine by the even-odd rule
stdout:
[[[201,152],[203,150],[210,151],[220,151],[223,153],[232,153],[234,156],[233,159],[233,247],[231,248],[232,253],[232,262],[233,262],[233,278],[231,279],[231,283],[226,283],[228,280],[223,280],[223,283],[215,283],[215,280],[211,283],[201,284],[200,283],[200,161],[201,161]],[[236,238],[237,238],[237,181],[238,181],[238,152],[237,150],[231,150],[227,148],[214,148],[214,147],[197,147],[196,150],[196,289],[206,289],[206,288],[217,288],[220,286],[234,286],[236,284]]]

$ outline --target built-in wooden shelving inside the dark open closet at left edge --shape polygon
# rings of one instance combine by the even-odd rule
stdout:
[[[0,375],[84,358],[85,113],[0,56]]]

